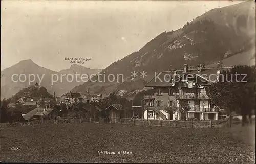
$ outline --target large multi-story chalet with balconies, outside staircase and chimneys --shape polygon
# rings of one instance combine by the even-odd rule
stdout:
[[[190,67],[191,68],[191,67]],[[154,95],[144,95],[144,119],[148,120],[218,120],[218,108],[211,103],[208,87],[218,81],[221,69],[197,68],[159,72],[145,87],[153,87]],[[188,104],[188,112],[181,112]]]

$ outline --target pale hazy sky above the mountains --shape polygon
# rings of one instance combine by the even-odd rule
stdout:
[[[164,31],[242,1],[1,1],[1,70],[32,59],[59,71],[67,58],[106,68]]]

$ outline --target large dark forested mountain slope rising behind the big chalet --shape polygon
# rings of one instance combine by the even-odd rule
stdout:
[[[154,72],[180,69],[185,63],[189,66],[202,63],[211,65],[225,60],[227,65],[245,64],[245,62],[255,65],[255,62],[251,62],[255,58],[253,48],[255,48],[255,2],[243,2],[212,9],[187,22],[183,28],[162,32],[139,51],[113,62],[102,72],[106,75],[123,74],[126,79],[130,78],[131,72],[134,71],[138,73],[145,71],[148,75],[154,75]],[[241,54],[243,56],[244,53],[247,53],[245,57],[251,60],[241,62],[236,58],[241,57]],[[96,80],[96,76],[92,79]],[[97,82],[97,85],[104,84]],[[118,87],[118,84],[113,85]],[[93,83],[86,82],[73,90],[83,92],[89,86],[93,86]]]

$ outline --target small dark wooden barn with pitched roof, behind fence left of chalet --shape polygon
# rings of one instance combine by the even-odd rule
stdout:
[[[110,122],[118,122],[118,118],[122,118],[124,114],[121,104],[112,104],[108,108],[105,108],[105,112]]]

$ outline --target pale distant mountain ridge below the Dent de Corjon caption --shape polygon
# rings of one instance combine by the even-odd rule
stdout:
[[[71,65],[68,69],[53,71],[51,69],[37,65],[31,59],[22,60],[14,64],[13,66],[5,68],[3,71],[1,71],[1,99],[13,96],[18,91],[22,90],[23,88],[27,88],[30,85],[33,85],[35,82],[39,83],[40,79],[42,80],[39,85],[45,86],[50,93],[55,92],[56,96],[60,96],[63,93],[70,91],[73,87],[83,83],[82,81],[78,82],[75,80],[68,81],[65,76],[61,79],[61,75],[75,75],[76,73],[79,75],[91,75],[97,74],[99,71],[101,71],[101,69],[89,69],[81,65]],[[18,76],[21,74],[24,74],[26,76],[27,80],[25,82],[20,82],[20,80],[18,79]],[[30,74],[35,75],[35,80],[29,84],[28,78]],[[18,81],[12,81],[12,76],[14,81]],[[54,79],[55,77],[58,77],[58,81]],[[33,78],[34,77],[31,76],[30,80],[32,81]],[[55,80],[56,82],[53,83],[53,80]]]

